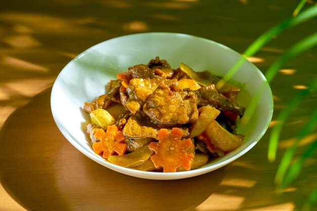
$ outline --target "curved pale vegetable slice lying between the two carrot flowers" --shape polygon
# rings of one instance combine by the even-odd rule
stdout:
[[[129,154],[111,155],[108,157],[108,161],[123,167],[133,167],[147,161],[152,154],[153,151],[146,145]]]

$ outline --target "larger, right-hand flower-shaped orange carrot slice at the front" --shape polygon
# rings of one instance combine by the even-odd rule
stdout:
[[[185,170],[190,170],[194,157],[190,153],[193,143],[190,139],[181,141],[183,134],[178,128],[173,128],[170,135],[167,129],[161,129],[157,135],[159,142],[149,144],[149,148],[155,152],[150,158],[157,169],[176,172],[182,166]]]

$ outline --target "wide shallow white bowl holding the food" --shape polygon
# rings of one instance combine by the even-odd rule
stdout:
[[[248,125],[240,125],[239,130],[247,131],[241,147],[197,170],[177,173],[143,172],[105,161],[92,150],[86,136],[84,125],[89,120],[89,114],[83,111],[84,102],[104,94],[106,83],[115,79],[116,73],[127,71],[129,66],[147,64],[156,56],[167,60],[173,68],[184,62],[196,71],[210,70],[216,75],[224,75],[241,57],[214,41],[179,33],[132,34],[89,48],[63,68],[51,94],[54,120],[75,148],[111,170],[139,178],[171,180],[214,171],[245,154],[264,135],[273,113],[272,93],[263,74],[247,61],[232,78],[245,83],[237,102],[247,107],[261,84],[265,84],[265,89],[251,121]]]

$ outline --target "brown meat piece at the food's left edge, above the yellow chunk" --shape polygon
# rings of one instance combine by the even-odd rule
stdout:
[[[91,103],[86,102],[84,109],[87,113],[96,110],[97,108],[106,109],[112,102],[121,103],[119,90],[121,80],[111,80],[107,85],[109,92],[95,98]]]

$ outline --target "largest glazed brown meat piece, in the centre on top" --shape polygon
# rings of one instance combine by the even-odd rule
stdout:
[[[143,106],[143,111],[158,124],[177,125],[198,119],[197,97],[193,92],[173,92],[161,83]]]

